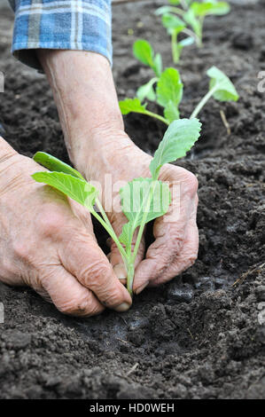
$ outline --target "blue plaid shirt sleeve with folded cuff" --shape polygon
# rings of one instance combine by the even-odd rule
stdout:
[[[36,49],[93,51],[112,64],[112,0],[10,0],[12,53],[41,69]]]

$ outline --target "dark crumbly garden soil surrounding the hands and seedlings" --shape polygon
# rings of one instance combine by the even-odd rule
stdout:
[[[186,49],[179,67],[183,116],[207,91],[212,65],[240,94],[237,104],[212,101],[205,108],[195,153],[179,162],[199,178],[199,260],[168,285],[144,290],[127,313],[92,319],[68,318],[31,289],[0,285],[1,398],[265,397],[265,323],[258,320],[265,305],[265,93],[257,90],[265,5],[231,3],[230,15],[207,20],[204,48]],[[150,40],[171,65],[168,36],[153,15],[159,4],[114,8],[120,98],[133,96],[150,76],[132,57],[136,38]],[[2,11],[1,133],[20,153],[44,150],[67,161],[47,82],[10,55],[11,22],[12,13]],[[143,115],[125,122],[136,144],[152,153],[164,126]]]

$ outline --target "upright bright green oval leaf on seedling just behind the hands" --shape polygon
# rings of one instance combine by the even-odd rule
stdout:
[[[183,98],[183,83],[175,68],[167,68],[157,83],[156,93],[160,106],[166,107],[169,101],[178,106]]]

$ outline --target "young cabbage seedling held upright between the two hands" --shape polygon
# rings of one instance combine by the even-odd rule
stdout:
[[[34,160],[51,170],[51,172],[35,172],[32,175],[35,181],[51,185],[67,197],[82,204],[112,237],[127,269],[127,288],[131,295],[136,254],[143,236],[144,225],[166,214],[171,200],[168,184],[159,180],[160,169],[165,163],[182,158],[191,149],[199,138],[200,127],[201,124],[196,118],[172,122],[150,163],[151,177],[135,178],[121,188],[121,209],[128,222],[123,225],[119,237],[113,231],[113,226],[97,197],[97,189],[88,183],[76,169],[49,153],[35,153]],[[136,229],[138,229],[136,244],[133,249],[132,242]]]

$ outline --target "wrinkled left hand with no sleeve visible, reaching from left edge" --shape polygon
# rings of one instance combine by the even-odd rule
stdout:
[[[97,246],[90,214],[35,183],[30,176],[42,169],[12,148],[1,155],[0,280],[33,287],[66,314],[128,310],[131,298]]]

